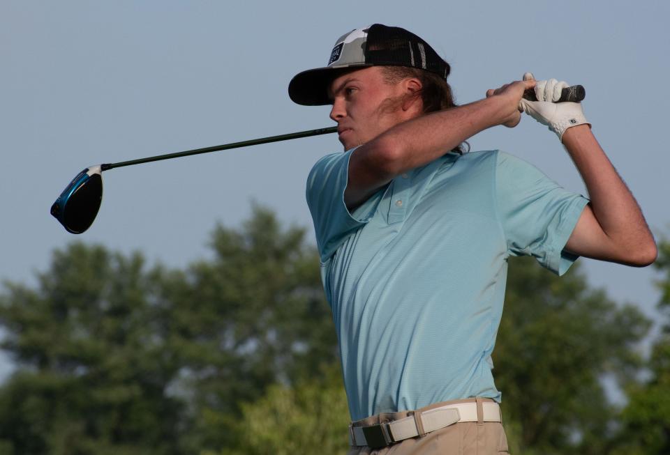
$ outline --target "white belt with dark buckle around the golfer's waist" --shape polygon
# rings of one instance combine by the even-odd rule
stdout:
[[[482,404],[482,422],[502,422],[500,406],[491,401]],[[417,423],[420,420],[420,425]],[[477,403],[456,403],[425,411],[415,411],[413,415],[371,426],[349,426],[351,445],[372,447],[373,449],[391,445],[401,440],[445,428],[458,422],[479,422]],[[419,431],[419,427],[423,431]]]

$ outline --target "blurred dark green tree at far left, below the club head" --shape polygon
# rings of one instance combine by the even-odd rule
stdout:
[[[18,370],[0,390],[0,439],[15,454],[179,453],[183,406],[165,349],[161,270],[142,256],[73,243],[30,289],[0,296],[2,348]]]

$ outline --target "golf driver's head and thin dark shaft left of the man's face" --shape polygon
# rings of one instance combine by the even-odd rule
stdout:
[[[200,153],[255,146],[258,144],[267,144],[269,142],[288,141],[289,139],[318,136],[319,134],[329,134],[332,132],[337,132],[337,127],[280,134],[278,136],[233,142],[232,144],[224,144],[221,146],[196,148],[195,150],[184,152],[140,158],[139,160],[90,166],[78,173],[68,186],[65,187],[65,190],[63,190],[61,195],[58,196],[58,199],[56,199],[51,206],[51,214],[58,219],[68,232],[80,234],[91,227],[94,219],[96,219],[96,215],[98,215],[98,210],[100,210],[100,204],[103,200],[103,171],[108,171],[115,167],[132,166],[133,164],[142,164],[151,161],[171,160],[172,158],[199,155]]]

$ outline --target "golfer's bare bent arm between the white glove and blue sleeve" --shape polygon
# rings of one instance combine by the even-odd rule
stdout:
[[[598,259],[646,265],[655,259],[653,235],[649,231],[638,203],[605,155],[588,125],[569,128],[563,144],[581,174],[590,197],[591,222],[598,229],[581,229],[587,233],[568,242],[567,249],[595,256]],[[590,213],[580,219],[588,224]],[[600,238],[597,238],[600,236]],[[602,251],[590,248],[604,245]]]

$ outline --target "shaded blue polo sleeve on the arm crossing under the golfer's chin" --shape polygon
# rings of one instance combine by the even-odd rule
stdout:
[[[307,178],[306,198],[312,215],[321,262],[327,262],[336,249],[374,215],[383,189],[349,212],[344,203],[349,159],[355,148],[345,153],[322,157]]]

